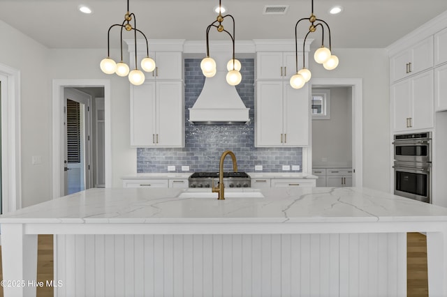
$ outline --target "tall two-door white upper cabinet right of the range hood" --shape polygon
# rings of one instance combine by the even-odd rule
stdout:
[[[288,82],[258,81],[256,86],[256,146],[309,144],[309,90]]]

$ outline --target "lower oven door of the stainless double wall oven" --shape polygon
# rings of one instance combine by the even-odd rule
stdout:
[[[406,167],[395,163],[394,194],[430,202],[430,167]]]

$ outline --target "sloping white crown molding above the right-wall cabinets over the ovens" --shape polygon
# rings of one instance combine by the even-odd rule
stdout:
[[[435,33],[441,31],[442,29],[445,29],[446,27],[447,27],[447,11],[441,13],[437,17],[432,18],[432,20],[426,22],[422,26],[419,26],[417,29],[414,29],[410,33],[406,34],[406,36],[395,41],[395,43],[388,45],[388,47],[386,47],[386,50],[388,50],[388,55],[394,56],[398,52],[406,50],[412,45],[418,43],[420,40],[432,36]]]

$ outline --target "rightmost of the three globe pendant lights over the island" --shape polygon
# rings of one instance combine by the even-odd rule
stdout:
[[[298,71],[298,36],[297,36],[297,29],[298,24],[303,20],[309,20],[311,22],[311,25],[309,26],[309,32],[307,32],[305,36],[305,40],[302,43],[302,69]],[[323,20],[319,20],[314,15],[314,0],[312,0],[312,13],[310,17],[305,17],[296,22],[295,24],[295,61],[296,61],[296,74],[291,77],[291,86],[294,89],[301,89],[302,86],[306,84],[306,82],[309,82],[309,79],[312,77],[312,74],[309,69],[305,67],[305,44],[307,36],[309,36],[309,33],[313,33],[316,31],[317,27],[321,27],[321,47],[318,48],[318,50],[315,51],[314,59],[316,63],[323,64],[323,67],[326,70],[332,70],[335,69],[338,66],[338,58],[331,52],[331,46],[330,46],[330,28],[328,23],[326,23]],[[324,29],[325,27],[328,29],[329,33],[329,48],[324,46]]]

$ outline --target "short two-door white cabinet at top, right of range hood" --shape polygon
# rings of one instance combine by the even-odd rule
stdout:
[[[256,79],[290,79],[296,73],[295,60],[294,52],[258,52]],[[302,53],[298,53],[298,66],[302,68]]]

